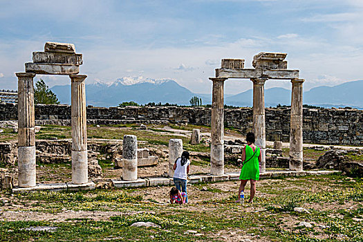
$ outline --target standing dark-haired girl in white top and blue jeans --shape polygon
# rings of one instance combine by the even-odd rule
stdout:
[[[174,169],[174,184],[176,189],[187,194],[187,174],[189,173],[189,152],[183,151],[182,156],[176,159]],[[185,198],[185,203],[188,202],[188,196]]]

